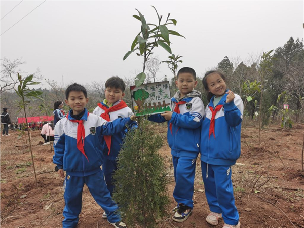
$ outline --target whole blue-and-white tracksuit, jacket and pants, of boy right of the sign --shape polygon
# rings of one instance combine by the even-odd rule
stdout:
[[[201,93],[196,90],[187,94],[181,100],[179,95],[180,92],[178,91],[171,98],[173,110],[177,102],[185,101],[186,103],[179,105],[179,114],[172,113],[172,118],[168,121],[167,133],[176,183],[173,197],[177,203],[193,208],[194,176],[196,158],[200,151],[199,143],[204,104],[201,99]],[[152,115],[148,120],[158,123],[166,121],[161,115]]]

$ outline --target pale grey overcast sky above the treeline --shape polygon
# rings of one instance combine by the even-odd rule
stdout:
[[[103,2],[1,1],[1,58],[21,58],[23,71],[40,68],[44,78],[67,84],[105,81],[112,75],[134,77],[143,58],[131,48],[141,23],[132,17],[137,8],[147,23],[157,23],[155,6],[165,18],[177,20],[168,26],[186,37],[171,36],[174,54],[183,55],[180,67],[193,67],[201,75],[225,56],[242,60],[283,46],[292,36],[303,39],[303,1],[298,2]],[[169,53],[155,49],[161,61]],[[161,64],[158,77],[172,77]],[[45,83],[44,83],[45,85]]]

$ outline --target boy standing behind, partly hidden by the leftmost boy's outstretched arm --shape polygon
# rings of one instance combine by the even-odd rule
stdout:
[[[93,114],[100,116],[107,121],[114,121],[118,118],[127,118],[132,116],[133,112],[131,108],[129,108],[122,100],[125,96],[125,89],[126,84],[121,78],[117,76],[109,78],[105,82],[105,99],[103,102],[98,103]],[[104,153],[102,170],[111,196],[113,196],[113,189],[115,186],[113,182],[113,174],[117,170],[117,157],[126,132],[127,130],[124,130],[111,136],[104,135],[102,138]],[[103,213],[102,217],[107,217],[106,212]]]

